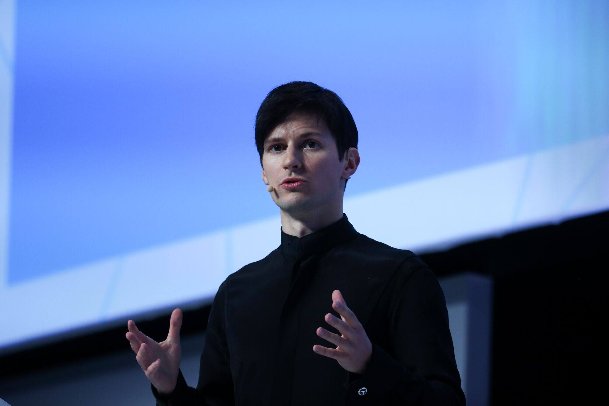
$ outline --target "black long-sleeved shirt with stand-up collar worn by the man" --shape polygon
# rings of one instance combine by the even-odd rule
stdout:
[[[364,374],[316,354],[340,335],[332,292],[364,326],[372,355]],[[465,405],[442,288],[413,252],[358,233],[343,213],[281,245],[222,282],[214,297],[199,383],[179,372],[157,405]],[[362,389],[362,388],[365,388]],[[361,394],[364,393],[364,394]]]

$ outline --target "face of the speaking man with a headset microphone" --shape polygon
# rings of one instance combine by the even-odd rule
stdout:
[[[293,113],[264,141],[262,179],[275,188],[271,193],[273,201],[287,213],[306,213],[319,210],[319,205],[342,204],[347,165],[344,157],[339,161],[334,137],[315,115]],[[304,182],[292,187],[282,185],[289,177]]]

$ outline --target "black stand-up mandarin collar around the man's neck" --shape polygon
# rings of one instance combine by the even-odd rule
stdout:
[[[280,230],[281,251],[290,258],[305,258],[312,254],[328,251],[333,246],[347,241],[357,234],[345,213],[340,220],[300,238],[284,233],[283,227]]]

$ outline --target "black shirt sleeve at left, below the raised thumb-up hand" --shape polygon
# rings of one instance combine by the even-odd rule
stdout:
[[[157,406],[234,405],[226,335],[226,283],[227,280],[222,282],[211,304],[197,387],[188,386],[180,369],[172,393],[160,394],[157,388],[150,384]]]

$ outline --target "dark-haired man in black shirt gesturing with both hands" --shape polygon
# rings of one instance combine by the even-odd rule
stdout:
[[[161,343],[128,321],[157,405],[464,405],[434,274],[342,211],[360,162],[342,100],[311,82],[281,85],[258,110],[255,140],[281,244],[220,285],[196,388],[179,369],[180,309]]]

